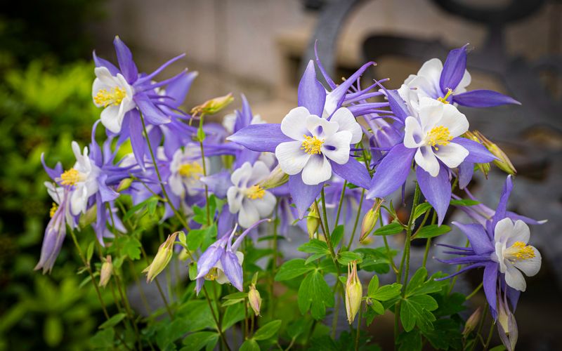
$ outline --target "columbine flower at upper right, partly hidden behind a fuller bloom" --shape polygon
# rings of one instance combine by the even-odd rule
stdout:
[[[468,44],[467,44],[468,45]],[[438,58],[432,58],[421,66],[417,74],[410,74],[404,84],[412,89],[417,98],[429,97],[445,104],[456,102],[468,107],[491,107],[505,104],[521,105],[509,96],[490,90],[466,91],[471,76],[466,70],[466,45],[455,48],[447,55],[445,65]],[[404,100],[407,92],[398,91]]]

